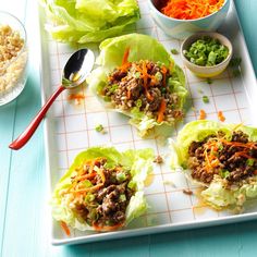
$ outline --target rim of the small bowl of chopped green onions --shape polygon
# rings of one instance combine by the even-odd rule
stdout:
[[[221,62],[221,63],[219,63],[219,64],[216,64],[216,65],[213,65],[213,66],[201,66],[201,65],[197,65],[197,64],[195,64],[195,63],[193,63],[193,62],[191,62],[185,56],[184,56],[184,53],[183,53],[183,47],[184,47],[184,45],[185,45],[185,42],[187,41],[187,40],[189,40],[192,37],[195,37],[196,35],[198,35],[199,37],[197,37],[197,38],[200,38],[200,36],[210,36],[210,37],[212,37],[212,35],[219,35],[222,39],[225,39],[228,42],[229,42],[229,54],[228,54],[228,57]],[[196,40],[197,40],[197,38],[196,38]],[[213,38],[217,38],[217,37],[213,37]],[[217,38],[217,39],[219,39],[219,38]],[[220,41],[220,44],[222,44],[223,45],[223,42],[221,41],[221,40],[219,40]],[[225,37],[224,35],[222,35],[222,34],[220,34],[220,33],[217,33],[217,32],[198,32],[198,33],[195,33],[195,34],[193,34],[193,35],[191,35],[191,36],[188,36],[188,37],[186,37],[184,40],[183,40],[183,42],[181,44],[181,57],[182,57],[182,59],[183,59],[183,61],[186,61],[187,63],[189,63],[192,66],[195,66],[195,68],[203,68],[203,69],[205,69],[205,70],[211,70],[211,69],[213,69],[213,68],[219,68],[219,66],[221,66],[221,65],[223,65],[224,64],[224,62],[227,62],[229,59],[231,59],[231,57],[232,57],[232,54],[233,54],[233,45],[232,45],[232,42],[231,42],[231,40],[228,38],[228,37]]]

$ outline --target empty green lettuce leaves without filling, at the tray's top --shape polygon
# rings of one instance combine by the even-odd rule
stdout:
[[[64,42],[99,42],[139,20],[136,0],[41,0],[51,24],[46,28]]]

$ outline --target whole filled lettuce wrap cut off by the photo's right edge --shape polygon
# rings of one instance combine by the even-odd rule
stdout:
[[[205,187],[215,209],[243,209],[257,197],[257,128],[215,121],[189,122],[172,143],[172,169],[183,168]]]

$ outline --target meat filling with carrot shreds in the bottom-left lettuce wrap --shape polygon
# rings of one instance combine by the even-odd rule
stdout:
[[[108,168],[105,158],[84,163],[72,178],[66,199],[70,207],[96,229],[122,227],[131,197],[135,194],[130,171],[123,167]]]

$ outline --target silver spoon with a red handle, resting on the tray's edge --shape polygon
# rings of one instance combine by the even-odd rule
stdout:
[[[33,119],[27,128],[14,140],[9,147],[13,150],[22,148],[33,136],[47,111],[57,99],[57,97],[65,89],[71,89],[81,85],[94,66],[95,56],[89,49],[81,49],[74,52],[68,60],[62,74],[62,85],[48,99],[37,115]]]

